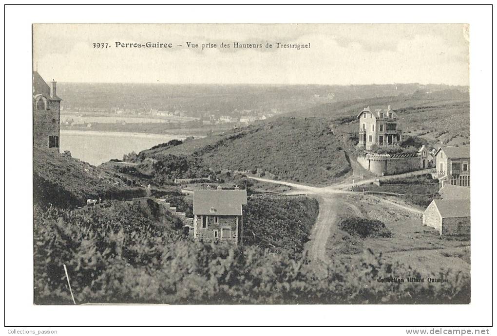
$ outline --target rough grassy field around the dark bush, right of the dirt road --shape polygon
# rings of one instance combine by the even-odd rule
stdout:
[[[391,200],[402,203],[395,198]],[[421,212],[393,207],[369,195],[344,196],[341,204],[343,206],[337,209],[340,218],[353,213],[380,220],[392,232],[392,237],[360,239],[333,228],[327,243],[330,258],[354,264],[365,249],[370,249],[381,253],[386,263],[408,264],[424,276],[440,269],[452,269],[469,275],[470,242],[441,239],[433,228],[422,226]]]

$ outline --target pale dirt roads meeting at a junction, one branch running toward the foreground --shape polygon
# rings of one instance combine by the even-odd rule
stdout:
[[[401,174],[401,176],[404,176]],[[392,175],[392,178],[394,178],[395,175]],[[399,176],[400,177],[400,176]],[[292,187],[293,190],[288,191],[285,193],[285,195],[312,195],[314,196],[318,202],[319,202],[319,214],[318,218],[316,219],[316,223],[314,224],[311,234],[310,234],[310,241],[306,244],[306,250],[309,253],[309,257],[311,260],[322,260],[322,261],[327,261],[327,256],[326,256],[326,243],[328,241],[328,237],[330,237],[331,233],[333,230],[337,229],[336,225],[336,220],[337,220],[337,215],[336,215],[336,209],[340,206],[348,206],[350,207],[351,211],[355,212],[356,214],[360,214],[360,209],[357,207],[357,205],[351,203],[350,201],[344,200],[341,198],[341,195],[362,195],[361,192],[352,192],[348,191],[346,189],[350,189],[355,186],[360,186],[360,185],[365,185],[372,183],[376,180],[376,178],[372,179],[364,179],[361,181],[357,182],[352,182],[352,183],[339,183],[327,187],[312,187],[312,186],[306,186],[303,184],[298,184],[298,183],[293,183],[293,182],[285,182],[285,181],[277,181],[277,180],[270,180],[270,179],[264,179],[260,177],[250,177],[248,178],[260,181],[260,182],[266,182],[266,183],[274,183],[274,184],[279,184],[279,185],[284,185],[288,187]],[[368,197],[371,197],[379,202],[385,202],[388,203],[389,205],[393,205],[399,208],[402,208],[407,211],[411,211],[415,213],[416,215],[419,215],[422,213],[421,210],[409,206],[408,204],[401,204],[397,202],[392,202],[390,200],[386,200],[381,197],[373,196],[373,195],[368,195]]]

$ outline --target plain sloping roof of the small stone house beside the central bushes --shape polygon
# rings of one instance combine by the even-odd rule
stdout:
[[[247,204],[245,190],[195,190],[193,214],[241,216],[242,205]]]

